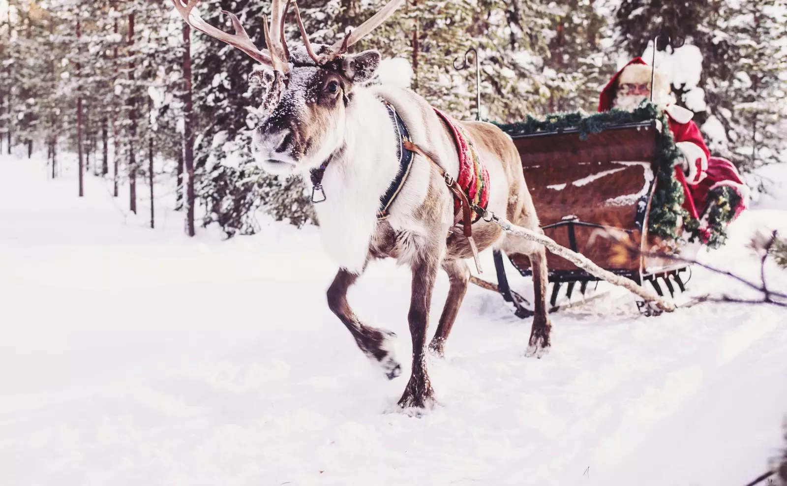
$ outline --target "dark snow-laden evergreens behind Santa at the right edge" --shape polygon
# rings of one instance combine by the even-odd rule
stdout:
[[[632,56],[640,55],[660,32],[684,37],[700,49],[699,87],[708,108],[694,120],[712,153],[752,168],[778,160],[785,149],[778,131],[785,120],[785,81],[778,79],[787,56],[780,43],[785,39],[784,16],[778,0],[623,0],[616,26],[619,44]],[[679,94],[682,88],[673,86]],[[685,98],[678,103],[684,104]]]

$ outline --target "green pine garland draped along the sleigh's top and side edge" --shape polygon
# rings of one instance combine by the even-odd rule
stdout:
[[[599,133],[611,125],[654,119],[660,121],[661,127],[669,127],[667,115],[656,109],[655,105],[646,102],[633,111],[611,109],[593,115],[583,112],[550,113],[542,120],[527,116],[527,119],[521,122],[492,123],[510,135],[575,128],[579,131],[579,138],[584,140],[589,134]],[[683,208],[685,193],[681,182],[678,182],[674,175],[680,152],[669,129],[663,129],[659,136],[660,153],[657,154],[653,167],[653,172],[657,174],[656,190],[653,192],[648,215],[649,234],[675,241],[682,238],[689,242],[700,241],[711,248],[718,248],[726,241],[726,226],[733,220],[735,208],[741,204],[741,197],[729,186],[720,186],[708,193],[708,208],[700,214],[700,219],[693,218]],[[681,232],[683,234],[680,234]]]

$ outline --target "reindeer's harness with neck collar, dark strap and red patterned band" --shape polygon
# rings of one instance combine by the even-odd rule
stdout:
[[[470,138],[467,134],[453,121],[449,116],[445,116],[438,109],[434,112],[438,114],[448,125],[449,130],[453,134],[454,142],[456,142],[456,150],[459,153],[460,173],[459,182],[445,171],[440,165],[435,162],[427,153],[412,142],[410,133],[407,130],[405,121],[401,119],[399,113],[393,108],[386,100],[381,100],[383,105],[388,109],[388,115],[391,122],[397,127],[397,156],[399,159],[399,170],[396,177],[391,181],[390,186],[386,193],[380,197],[380,205],[377,210],[377,219],[386,219],[390,213],[389,209],[393,201],[396,201],[397,196],[401,189],[405,186],[407,177],[412,168],[412,161],[415,159],[414,153],[423,156],[430,164],[437,168],[438,172],[445,181],[445,185],[454,196],[454,225],[461,223],[463,226],[463,234],[467,237],[467,242],[470,244],[471,251],[473,252],[473,259],[475,260],[475,267],[478,273],[482,273],[481,263],[478,260],[478,247],[472,236],[472,224],[481,219],[482,216],[487,214],[486,205],[489,203],[489,173],[478,158],[478,152],[475,150]],[[323,189],[323,176],[328,164],[333,160],[333,156],[328,157],[319,168],[312,169],[310,176],[312,179],[312,203],[320,203],[326,200],[325,190]],[[318,193],[320,197],[318,198]]]

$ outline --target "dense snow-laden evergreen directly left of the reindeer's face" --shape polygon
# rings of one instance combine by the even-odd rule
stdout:
[[[223,2],[200,3],[201,17],[231,31],[219,13]],[[242,0],[224,6],[236,13],[249,37],[264,46],[261,19],[270,4]],[[288,25],[294,39],[294,25]],[[194,105],[200,135],[194,142],[195,190],[205,206],[203,224],[218,223],[227,235],[257,230],[254,212],[268,208],[278,219],[301,226],[313,219],[309,197],[300,181],[280,180],[251,162],[251,131],[257,125],[259,87],[249,83],[253,60],[207,35],[193,36],[203,48],[193,59]]]

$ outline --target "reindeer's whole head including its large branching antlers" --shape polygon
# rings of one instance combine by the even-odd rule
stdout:
[[[404,0],[390,0],[378,13],[333,46],[312,46],[294,0],[282,6],[272,0],[272,19],[264,18],[267,50],[254,46],[238,17],[232,20],[235,34],[220,31],[190,14],[198,0],[173,0],[187,23],[205,34],[227,42],[253,57],[264,69],[250,78],[259,79],[265,94],[261,101],[264,120],[253,133],[254,160],[265,171],[290,174],[314,168],[341,149],[346,108],[353,99],[353,86],[371,79],[380,61],[375,50],[347,54],[347,49],[382,24]],[[304,46],[290,53],[284,39],[284,21],[294,4]]]

